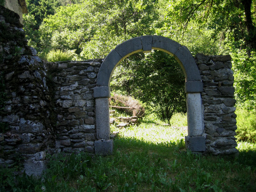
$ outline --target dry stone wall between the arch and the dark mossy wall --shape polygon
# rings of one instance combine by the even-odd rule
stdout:
[[[48,63],[56,100],[56,148],[94,153],[93,88],[101,60]]]

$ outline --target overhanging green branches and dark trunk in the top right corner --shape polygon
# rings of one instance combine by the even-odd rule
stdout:
[[[174,23],[184,33],[193,21],[200,28],[213,29],[214,38],[225,39],[227,34],[232,34],[235,40],[244,40],[242,48],[256,49],[255,5],[252,0],[168,1],[166,26],[170,28]]]

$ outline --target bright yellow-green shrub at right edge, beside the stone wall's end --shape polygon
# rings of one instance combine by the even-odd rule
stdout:
[[[245,108],[236,109],[236,138],[238,141],[256,142],[256,113]]]

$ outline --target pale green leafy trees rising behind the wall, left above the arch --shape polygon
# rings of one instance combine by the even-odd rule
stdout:
[[[41,47],[74,50],[82,59],[105,57],[117,44],[154,34],[157,14],[153,0],[136,8],[135,0],[89,1],[60,6],[40,26]]]

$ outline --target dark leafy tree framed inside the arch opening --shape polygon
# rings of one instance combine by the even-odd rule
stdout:
[[[177,61],[161,51],[135,54],[116,68],[112,90],[145,102],[161,119],[170,119],[174,112],[187,111],[184,92],[185,77]]]

